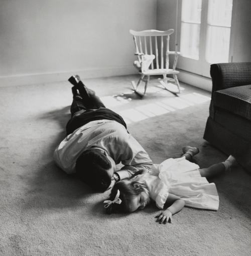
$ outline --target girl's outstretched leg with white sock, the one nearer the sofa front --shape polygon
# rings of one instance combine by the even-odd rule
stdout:
[[[224,162],[215,163],[207,168],[199,169],[201,177],[211,178],[223,174],[226,170],[229,170],[231,166],[236,165],[235,158],[230,155]]]

